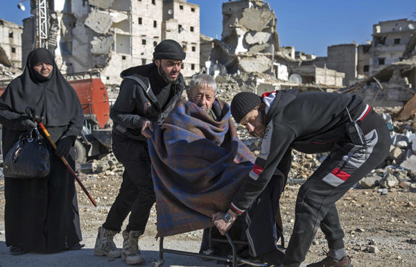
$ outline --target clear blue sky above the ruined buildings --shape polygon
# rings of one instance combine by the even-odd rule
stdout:
[[[116,1],[116,0],[115,0]],[[200,6],[201,33],[221,37],[224,0],[188,0]],[[271,0],[277,17],[280,46],[295,46],[296,51],[327,55],[327,46],[352,41],[365,44],[372,40],[372,26],[379,21],[416,20],[415,0]],[[19,0],[1,0],[0,18],[23,24],[30,17],[17,8]]]

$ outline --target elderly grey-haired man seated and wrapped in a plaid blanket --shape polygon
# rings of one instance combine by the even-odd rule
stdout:
[[[214,226],[214,212],[227,211],[255,160],[239,140],[229,105],[216,99],[214,78],[196,76],[187,94],[190,101],[178,102],[162,128],[155,125],[153,132],[148,132],[158,236]],[[242,218],[236,223],[240,227],[234,223],[230,234],[249,242],[248,250],[240,248],[240,257],[279,264],[282,253],[276,246],[275,216],[283,182],[271,181],[268,190],[239,216]],[[216,252],[227,253],[225,250],[218,247]]]

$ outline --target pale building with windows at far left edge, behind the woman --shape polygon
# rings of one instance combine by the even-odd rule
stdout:
[[[21,68],[23,26],[0,19],[0,64]]]

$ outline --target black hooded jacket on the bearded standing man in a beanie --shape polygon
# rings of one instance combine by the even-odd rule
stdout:
[[[147,141],[147,138],[141,135],[143,122],[148,119],[155,123],[162,123],[168,116],[182,96],[184,78],[180,74],[177,83],[166,85],[171,87],[171,94],[165,105],[161,107],[152,90],[152,88],[160,86],[155,78],[158,75],[157,67],[153,63],[132,67],[121,72],[120,76],[124,80],[120,86],[119,96],[110,110],[110,118],[114,122],[114,132],[132,139]],[[139,82],[140,80],[142,83]]]

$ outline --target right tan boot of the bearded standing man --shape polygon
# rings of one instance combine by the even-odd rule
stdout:
[[[143,264],[146,259],[141,255],[139,248],[139,237],[143,234],[140,231],[123,231],[123,253],[121,258],[127,264]]]

